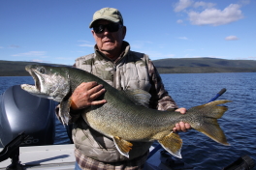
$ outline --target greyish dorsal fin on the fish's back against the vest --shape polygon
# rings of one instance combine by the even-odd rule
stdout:
[[[148,107],[149,99],[151,98],[151,95],[148,92],[145,92],[142,89],[125,90],[122,92],[126,97],[134,101],[135,104]]]

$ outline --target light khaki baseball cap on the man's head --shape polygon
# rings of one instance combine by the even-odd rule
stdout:
[[[120,22],[121,24],[123,24],[123,18],[121,13],[117,9],[113,8],[104,8],[95,12],[95,14],[93,14],[89,28],[92,28],[93,23],[99,19],[106,19],[114,23]]]

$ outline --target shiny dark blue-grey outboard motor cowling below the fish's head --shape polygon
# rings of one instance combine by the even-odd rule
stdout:
[[[10,87],[0,96],[0,147],[20,132],[29,135],[21,146],[52,145],[55,137],[55,101]]]

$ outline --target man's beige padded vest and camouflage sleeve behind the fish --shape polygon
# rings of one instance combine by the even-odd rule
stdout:
[[[149,92],[151,108],[177,108],[148,56],[131,51],[128,42],[123,42],[123,49],[120,57],[113,62],[95,47],[95,53],[78,58],[74,67],[99,76],[118,90],[143,89]],[[81,117],[73,118],[73,140],[76,150],[84,156],[104,162],[117,162],[143,156],[151,145],[149,142],[132,142],[133,149],[127,158],[119,154],[112,139],[89,128]]]

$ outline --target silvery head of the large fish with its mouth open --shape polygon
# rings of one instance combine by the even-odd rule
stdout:
[[[34,96],[60,102],[70,91],[69,71],[64,67],[28,65],[25,70],[31,74],[35,85],[22,84],[21,88]]]

